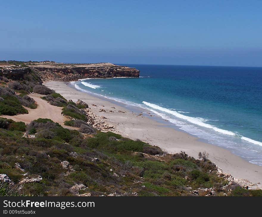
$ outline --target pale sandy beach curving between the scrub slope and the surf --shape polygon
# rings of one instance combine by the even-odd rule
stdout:
[[[124,104],[121,106],[119,103],[114,103],[113,100],[81,92],[65,82],[50,81],[44,85],[60,93],[67,100],[71,99],[76,102],[80,99],[86,102],[94,114],[106,117],[107,122],[113,125],[116,132],[122,136],[157,145],[169,153],[185,151],[194,158],[198,158],[198,152],[206,151],[209,153],[209,159],[222,168],[224,173],[230,173],[237,179],[246,179],[254,184],[259,183],[258,187],[262,187],[260,184],[262,166],[249,163],[229,150],[199,141],[198,138],[188,133],[167,127],[164,123],[146,117],[149,115],[146,114],[146,110],[143,114],[140,111],[137,112],[138,110],[128,110]]]

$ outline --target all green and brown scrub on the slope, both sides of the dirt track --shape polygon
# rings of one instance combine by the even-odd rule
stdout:
[[[42,99],[51,105],[62,107],[62,114],[70,118],[64,124],[77,129],[63,128],[51,119],[25,125],[0,118],[0,174],[14,183],[0,183],[0,196],[192,196],[199,188],[212,188],[212,195],[262,196],[261,190],[228,185],[206,152],[199,153],[199,159],[185,152],[171,155],[140,140],[95,130],[87,123],[85,106],[41,85],[32,70],[21,79],[0,79],[0,115],[28,113],[23,106],[36,106],[28,96],[34,91],[46,95]],[[41,178],[28,182],[36,177]],[[86,187],[74,190],[76,184]]]

